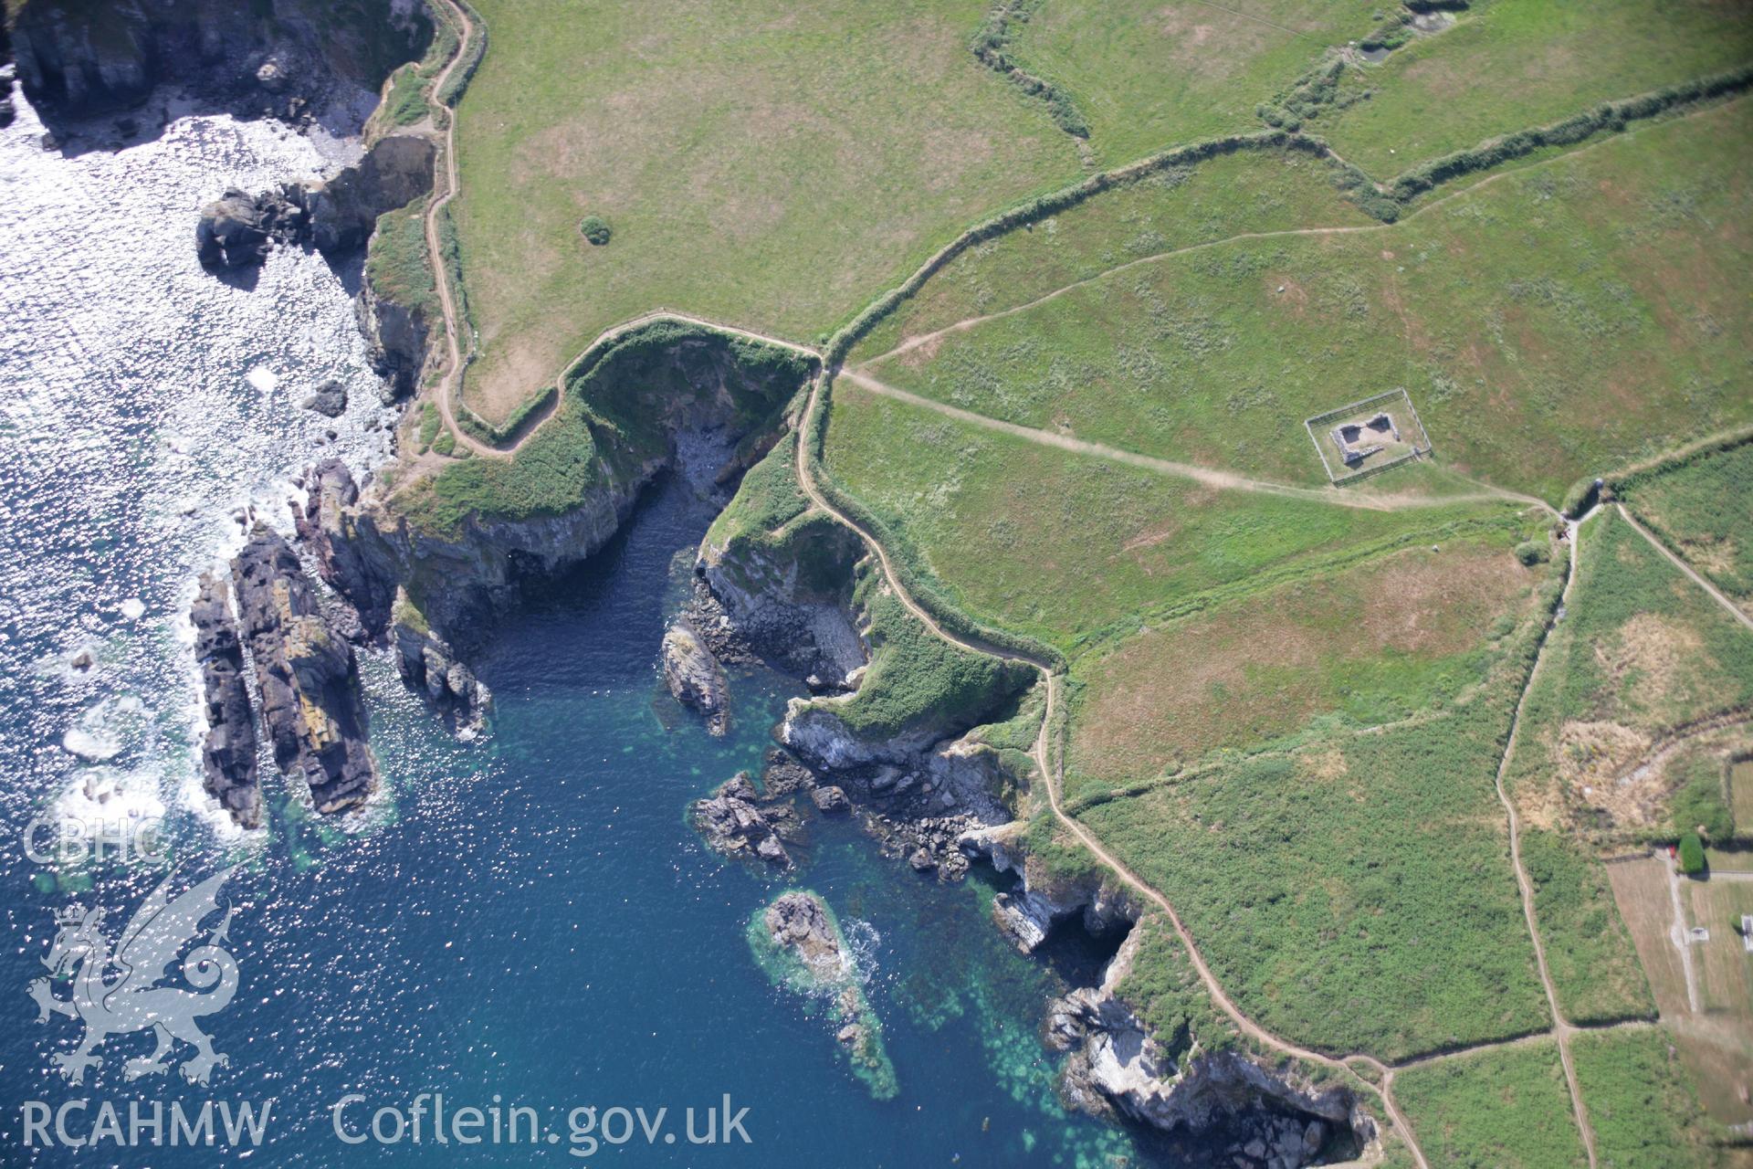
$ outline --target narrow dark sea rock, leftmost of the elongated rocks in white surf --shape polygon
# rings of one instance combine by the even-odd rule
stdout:
[[[256,773],[256,717],[244,682],[244,645],[231,617],[224,580],[203,573],[195,605],[195,661],[207,701],[202,783],[242,827],[261,827],[261,780]]]

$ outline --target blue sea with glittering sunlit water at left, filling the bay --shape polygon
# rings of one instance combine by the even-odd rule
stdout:
[[[610,550],[498,629],[479,659],[498,696],[489,741],[444,736],[368,655],[386,773],[370,813],[316,822],[266,768],[268,827],[216,824],[193,748],[193,577],[235,547],[231,510],[284,524],[287,478],[317,456],[380,463],[386,415],[344,279],[275,254],[254,289],[219,284],[195,263],[195,212],[223,186],[326,159],[230,119],[72,159],[35,135],[28,110],[0,133],[0,1164],[1139,1164],[1131,1137],[1054,1099],[1038,1027],[1062,983],[992,927],[990,876],[920,880],[847,824],[817,824],[801,850],[796,883],[827,899],[869,974],[892,1101],[854,1080],[826,1013],[754,964],[745,925],[787,885],[705,852],[684,815],[759,766],[787,689],[740,678],[724,740],[659,696],[664,615],[710,522],[685,487],[657,491]],[[326,377],[352,389],[340,422],[295,405]],[[105,906],[114,936],[161,876],[32,861],[26,825],[126,813],[165,818],[179,882],[238,866],[226,945],[242,985],[203,1020],[230,1057],[205,1087],[124,1081],[123,1059],[151,1046],[140,1034],[65,1083],[51,1057],[79,1024],[37,1024],[26,994],[58,911]],[[344,1127],[368,1134],[375,1109],[407,1120],[421,1094],[452,1116],[533,1108],[543,1137],[438,1144],[429,1118],[421,1143],[335,1132],[347,1097]],[[726,1095],[749,1109],[749,1143],[689,1144],[685,1109],[701,1136]],[[221,1101],[272,1101],[259,1148],[23,1144],[32,1109],[79,1137],[109,1104],[126,1139],[130,1104],[193,1118]],[[575,1132],[586,1106],[598,1122]],[[608,1143],[626,1132],[615,1108],[643,1109],[652,1137],[635,1120]]]

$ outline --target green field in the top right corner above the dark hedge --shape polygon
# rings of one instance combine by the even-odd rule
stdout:
[[[1611,98],[1753,61],[1744,0],[1483,0],[1380,65],[1352,67],[1308,130],[1387,181],[1485,138],[1562,121]]]

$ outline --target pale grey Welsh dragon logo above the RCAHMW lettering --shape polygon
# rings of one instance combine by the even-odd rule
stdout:
[[[209,876],[177,897],[170,892],[175,878],[170,873],[135,910],[114,948],[102,929],[103,910],[72,904],[56,913],[60,932],[42,959],[51,973],[30,983],[30,997],[37,1001],[39,1024],[49,1022],[49,1015],[67,1015],[86,1025],[75,1050],[54,1055],[70,1083],[82,1083],[86,1067],[102,1062],[95,1052],[105,1039],[135,1031],[151,1031],[158,1046],[124,1064],[128,1080],[168,1071],[177,1039],[195,1048],[182,1062],[182,1078],[189,1083],[207,1083],[212,1069],[228,1062],[195,1020],[223,1011],[237,994],[237,959],[221,945],[231,925],[231,908],[224,908],[224,918],[205,938],[200,936],[202,922],[221,908],[219,887],[235,871]],[[191,941],[202,945],[182,955]],[[158,985],[170,976],[172,964],[193,990]],[[72,999],[54,997],[56,980],[65,974],[72,974]]]

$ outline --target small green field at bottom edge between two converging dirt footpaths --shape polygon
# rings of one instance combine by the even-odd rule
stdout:
[[[1588,1164],[1551,1039],[1409,1067],[1394,1095],[1432,1169]]]

